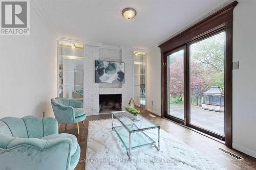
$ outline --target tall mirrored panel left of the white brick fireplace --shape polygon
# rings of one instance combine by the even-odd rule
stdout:
[[[83,44],[59,41],[59,97],[83,102]]]

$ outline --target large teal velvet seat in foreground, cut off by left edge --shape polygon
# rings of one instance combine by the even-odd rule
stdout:
[[[77,138],[58,134],[53,117],[0,119],[0,169],[70,170],[80,157]]]

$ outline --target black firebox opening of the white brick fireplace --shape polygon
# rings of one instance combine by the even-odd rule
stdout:
[[[106,114],[122,109],[122,94],[99,94],[99,113]]]

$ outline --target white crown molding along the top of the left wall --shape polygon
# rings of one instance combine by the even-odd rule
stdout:
[[[56,30],[52,27],[52,25],[50,24],[50,20],[49,17],[46,15],[45,11],[42,10],[42,8],[40,7],[40,5],[36,2],[36,0],[30,0],[30,6],[35,10],[35,12],[39,15],[39,17],[42,19],[42,21],[45,23],[45,25],[47,26],[47,28],[50,30],[50,32],[52,33],[52,35],[55,38],[58,38],[58,34],[56,32]]]

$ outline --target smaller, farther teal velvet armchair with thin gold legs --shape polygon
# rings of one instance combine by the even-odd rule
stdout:
[[[55,98],[51,99],[52,109],[55,118],[58,120],[59,124],[74,124],[77,125],[77,131],[79,135],[79,122],[82,122],[84,127],[83,120],[86,119],[86,113],[82,108],[82,102],[76,101],[74,99],[66,98]]]

